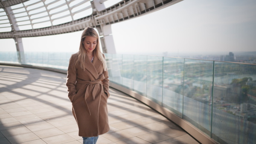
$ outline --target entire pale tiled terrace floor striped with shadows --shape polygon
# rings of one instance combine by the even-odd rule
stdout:
[[[81,144],[66,75],[0,66],[0,144]],[[154,110],[110,89],[111,130],[97,144],[198,144]]]

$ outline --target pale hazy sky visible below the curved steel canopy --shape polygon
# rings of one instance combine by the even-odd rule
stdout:
[[[256,51],[256,0],[183,0],[111,25],[118,54]],[[80,32],[23,38],[24,51],[77,52]],[[0,51],[16,51],[0,39]]]

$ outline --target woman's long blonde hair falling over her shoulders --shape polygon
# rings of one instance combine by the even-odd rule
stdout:
[[[96,48],[93,50],[94,55],[96,55],[96,57],[102,61],[103,64],[103,69],[104,71],[107,70],[107,63],[106,60],[102,54],[102,52],[100,51],[100,47],[99,47],[99,35],[97,34],[96,30],[93,29],[92,27],[86,27],[81,35],[81,40],[80,40],[80,46],[79,46],[79,51],[76,53],[78,55],[78,59],[76,60],[75,63],[75,68],[76,66],[80,63],[80,67],[81,69],[85,70],[85,56],[86,56],[86,50],[84,48],[84,39],[85,37],[90,36],[90,37],[95,37],[97,38],[97,44],[96,44]]]

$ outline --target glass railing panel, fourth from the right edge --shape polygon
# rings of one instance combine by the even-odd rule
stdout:
[[[147,56],[147,97],[162,105],[163,57]]]

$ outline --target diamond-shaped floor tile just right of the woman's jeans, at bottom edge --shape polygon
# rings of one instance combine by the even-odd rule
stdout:
[[[113,141],[113,142],[121,141],[121,140],[124,140],[127,138],[134,137],[133,135],[130,135],[130,134],[128,134],[126,132],[122,132],[122,131],[111,132],[111,133],[104,134],[102,136]]]

